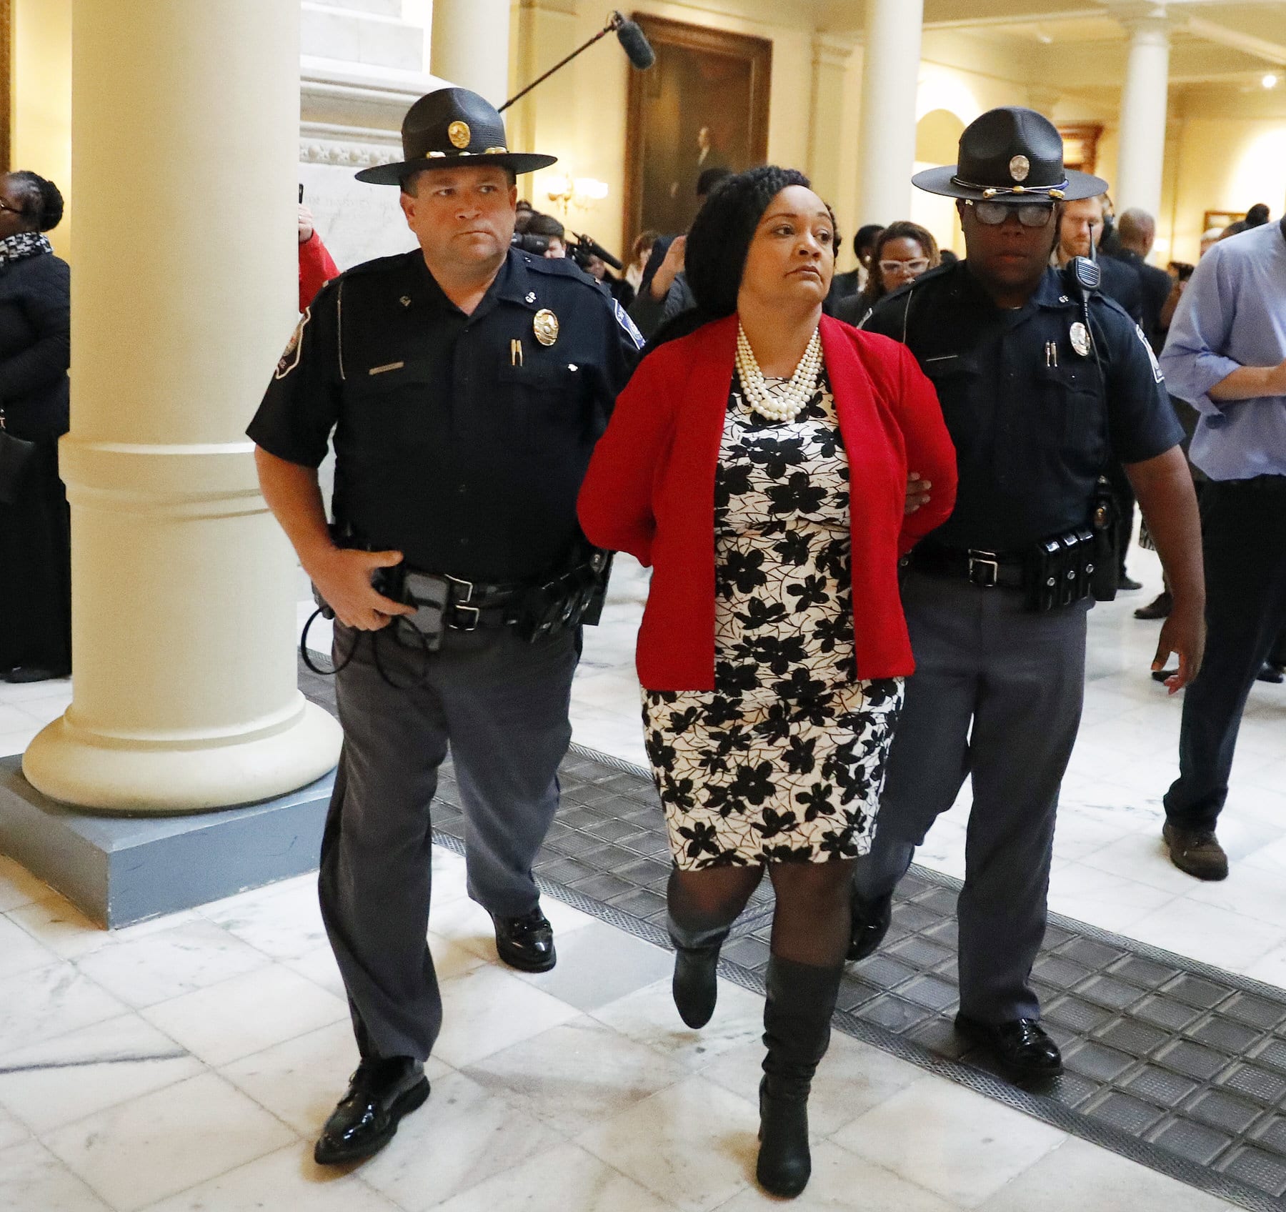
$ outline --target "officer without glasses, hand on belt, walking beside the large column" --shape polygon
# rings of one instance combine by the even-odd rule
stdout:
[[[320,897],[361,1063],[320,1163],[374,1153],[428,1096],[430,802],[448,748],[496,951],[554,965],[531,863],[603,565],[576,494],[642,345],[572,261],[511,247],[516,174],[554,158],[511,152],[486,100],[421,98],[403,151],[358,178],[401,188],[419,248],[323,288],[248,431],[269,507],[336,615],[345,744]],[[316,468],[332,430],[328,528]]]

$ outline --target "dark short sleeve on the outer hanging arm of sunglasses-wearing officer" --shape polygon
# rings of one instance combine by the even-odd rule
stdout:
[[[1142,463],[1183,440],[1165,378],[1143,329],[1120,309],[1105,317],[1111,336],[1107,369],[1107,430],[1112,454]]]

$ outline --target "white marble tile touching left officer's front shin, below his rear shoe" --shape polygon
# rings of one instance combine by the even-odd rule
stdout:
[[[576,1018],[576,1007],[541,993],[507,968],[482,964],[442,989],[435,1052],[455,1069]]]

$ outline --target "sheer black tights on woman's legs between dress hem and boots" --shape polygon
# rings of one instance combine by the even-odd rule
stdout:
[[[853,861],[770,863],[777,894],[773,955],[814,968],[844,962],[851,930],[849,893]],[[682,934],[700,937],[730,926],[746,907],[763,867],[707,867],[670,872],[670,919]]]

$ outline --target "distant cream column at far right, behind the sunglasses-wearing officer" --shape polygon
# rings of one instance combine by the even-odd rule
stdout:
[[[1161,210],[1165,118],[1170,85],[1170,23],[1164,15],[1127,22],[1129,63],[1121,90],[1120,152],[1112,201],[1116,214],[1139,206],[1154,217]]]

